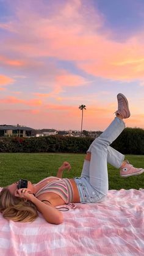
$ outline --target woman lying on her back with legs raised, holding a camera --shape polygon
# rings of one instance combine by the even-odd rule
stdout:
[[[71,169],[70,164],[64,162],[56,177],[45,178],[35,185],[31,181],[19,180],[6,186],[0,193],[0,212],[5,219],[31,222],[40,211],[47,222],[61,224],[63,214],[57,206],[103,201],[108,192],[107,163],[120,169],[122,177],[144,172],[143,168],[133,167],[128,160],[124,160],[124,155],[110,147],[124,130],[123,119],[131,115],[126,97],[118,93],[117,99],[116,117],[88,148],[81,177],[62,178],[63,170]]]

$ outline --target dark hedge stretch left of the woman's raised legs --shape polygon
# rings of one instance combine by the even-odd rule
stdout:
[[[1,137],[0,152],[65,152],[83,153],[92,143],[91,137]]]

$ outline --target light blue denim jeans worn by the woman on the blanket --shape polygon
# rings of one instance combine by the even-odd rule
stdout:
[[[74,178],[81,203],[101,202],[109,189],[107,163],[120,168],[124,155],[110,147],[110,144],[124,130],[123,120],[115,117],[107,129],[92,142],[87,152],[91,152],[90,161],[85,160],[81,177]]]

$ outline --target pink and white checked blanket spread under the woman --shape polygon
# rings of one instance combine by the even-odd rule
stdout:
[[[109,191],[102,203],[63,212],[63,224],[32,223],[0,214],[1,256],[144,255],[144,189]]]

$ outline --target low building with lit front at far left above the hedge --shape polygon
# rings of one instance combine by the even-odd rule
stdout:
[[[32,137],[34,129],[21,125],[0,125],[0,137],[15,136],[15,137]]]

